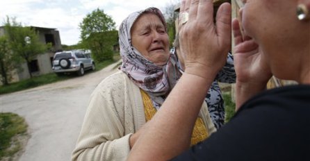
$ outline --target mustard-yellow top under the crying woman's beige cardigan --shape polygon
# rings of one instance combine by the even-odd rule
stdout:
[[[155,115],[156,109],[154,108],[152,100],[149,98],[149,95],[143,90],[140,90],[140,92],[142,94],[143,105],[145,107],[145,120],[149,121]],[[193,134],[190,139],[190,146],[195,145],[198,142],[202,142],[202,140],[206,139],[207,137],[209,137],[209,133],[206,129],[206,126],[204,125],[204,121],[202,120],[202,118],[197,117]]]

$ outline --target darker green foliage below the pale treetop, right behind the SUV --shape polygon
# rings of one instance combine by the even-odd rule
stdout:
[[[105,31],[88,37],[88,49],[92,51],[92,58],[96,62],[113,60],[113,44],[117,43],[117,36],[117,31]]]

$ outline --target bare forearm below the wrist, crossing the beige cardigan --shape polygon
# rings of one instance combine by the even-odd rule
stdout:
[[[204,78],[183,74],[161,109],[149,121],[145,133],[131,149],[129,160],[167,160],[187,149],[195,120],[206,95],[206,90],[202,90],[201,87],[206,87],[206,84],[208,83]],[[183,95],[181,100],[179,94]],[[150,146],[152,144],[154,146]]]

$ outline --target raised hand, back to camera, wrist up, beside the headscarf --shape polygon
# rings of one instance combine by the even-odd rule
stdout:
[[[231,6],[220,6],[213,21],[213,1],[182,1],[180,15],[188,12],[188,22],[179,23],[180,50],[188,74],[213,80],[225,65],[231,48]]]

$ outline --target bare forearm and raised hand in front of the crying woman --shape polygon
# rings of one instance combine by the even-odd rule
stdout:
[[[180,30],[185,73],[145,126],[128,160],[169,160],[188,149],[195,120],[206,96],[205,89],[210,87],[225,64],[231,43],[229,4],[219,9],[216,28],[212,0],[183,1],[181,12],[185,8],[189,8],[190,13],[187,24]]]

